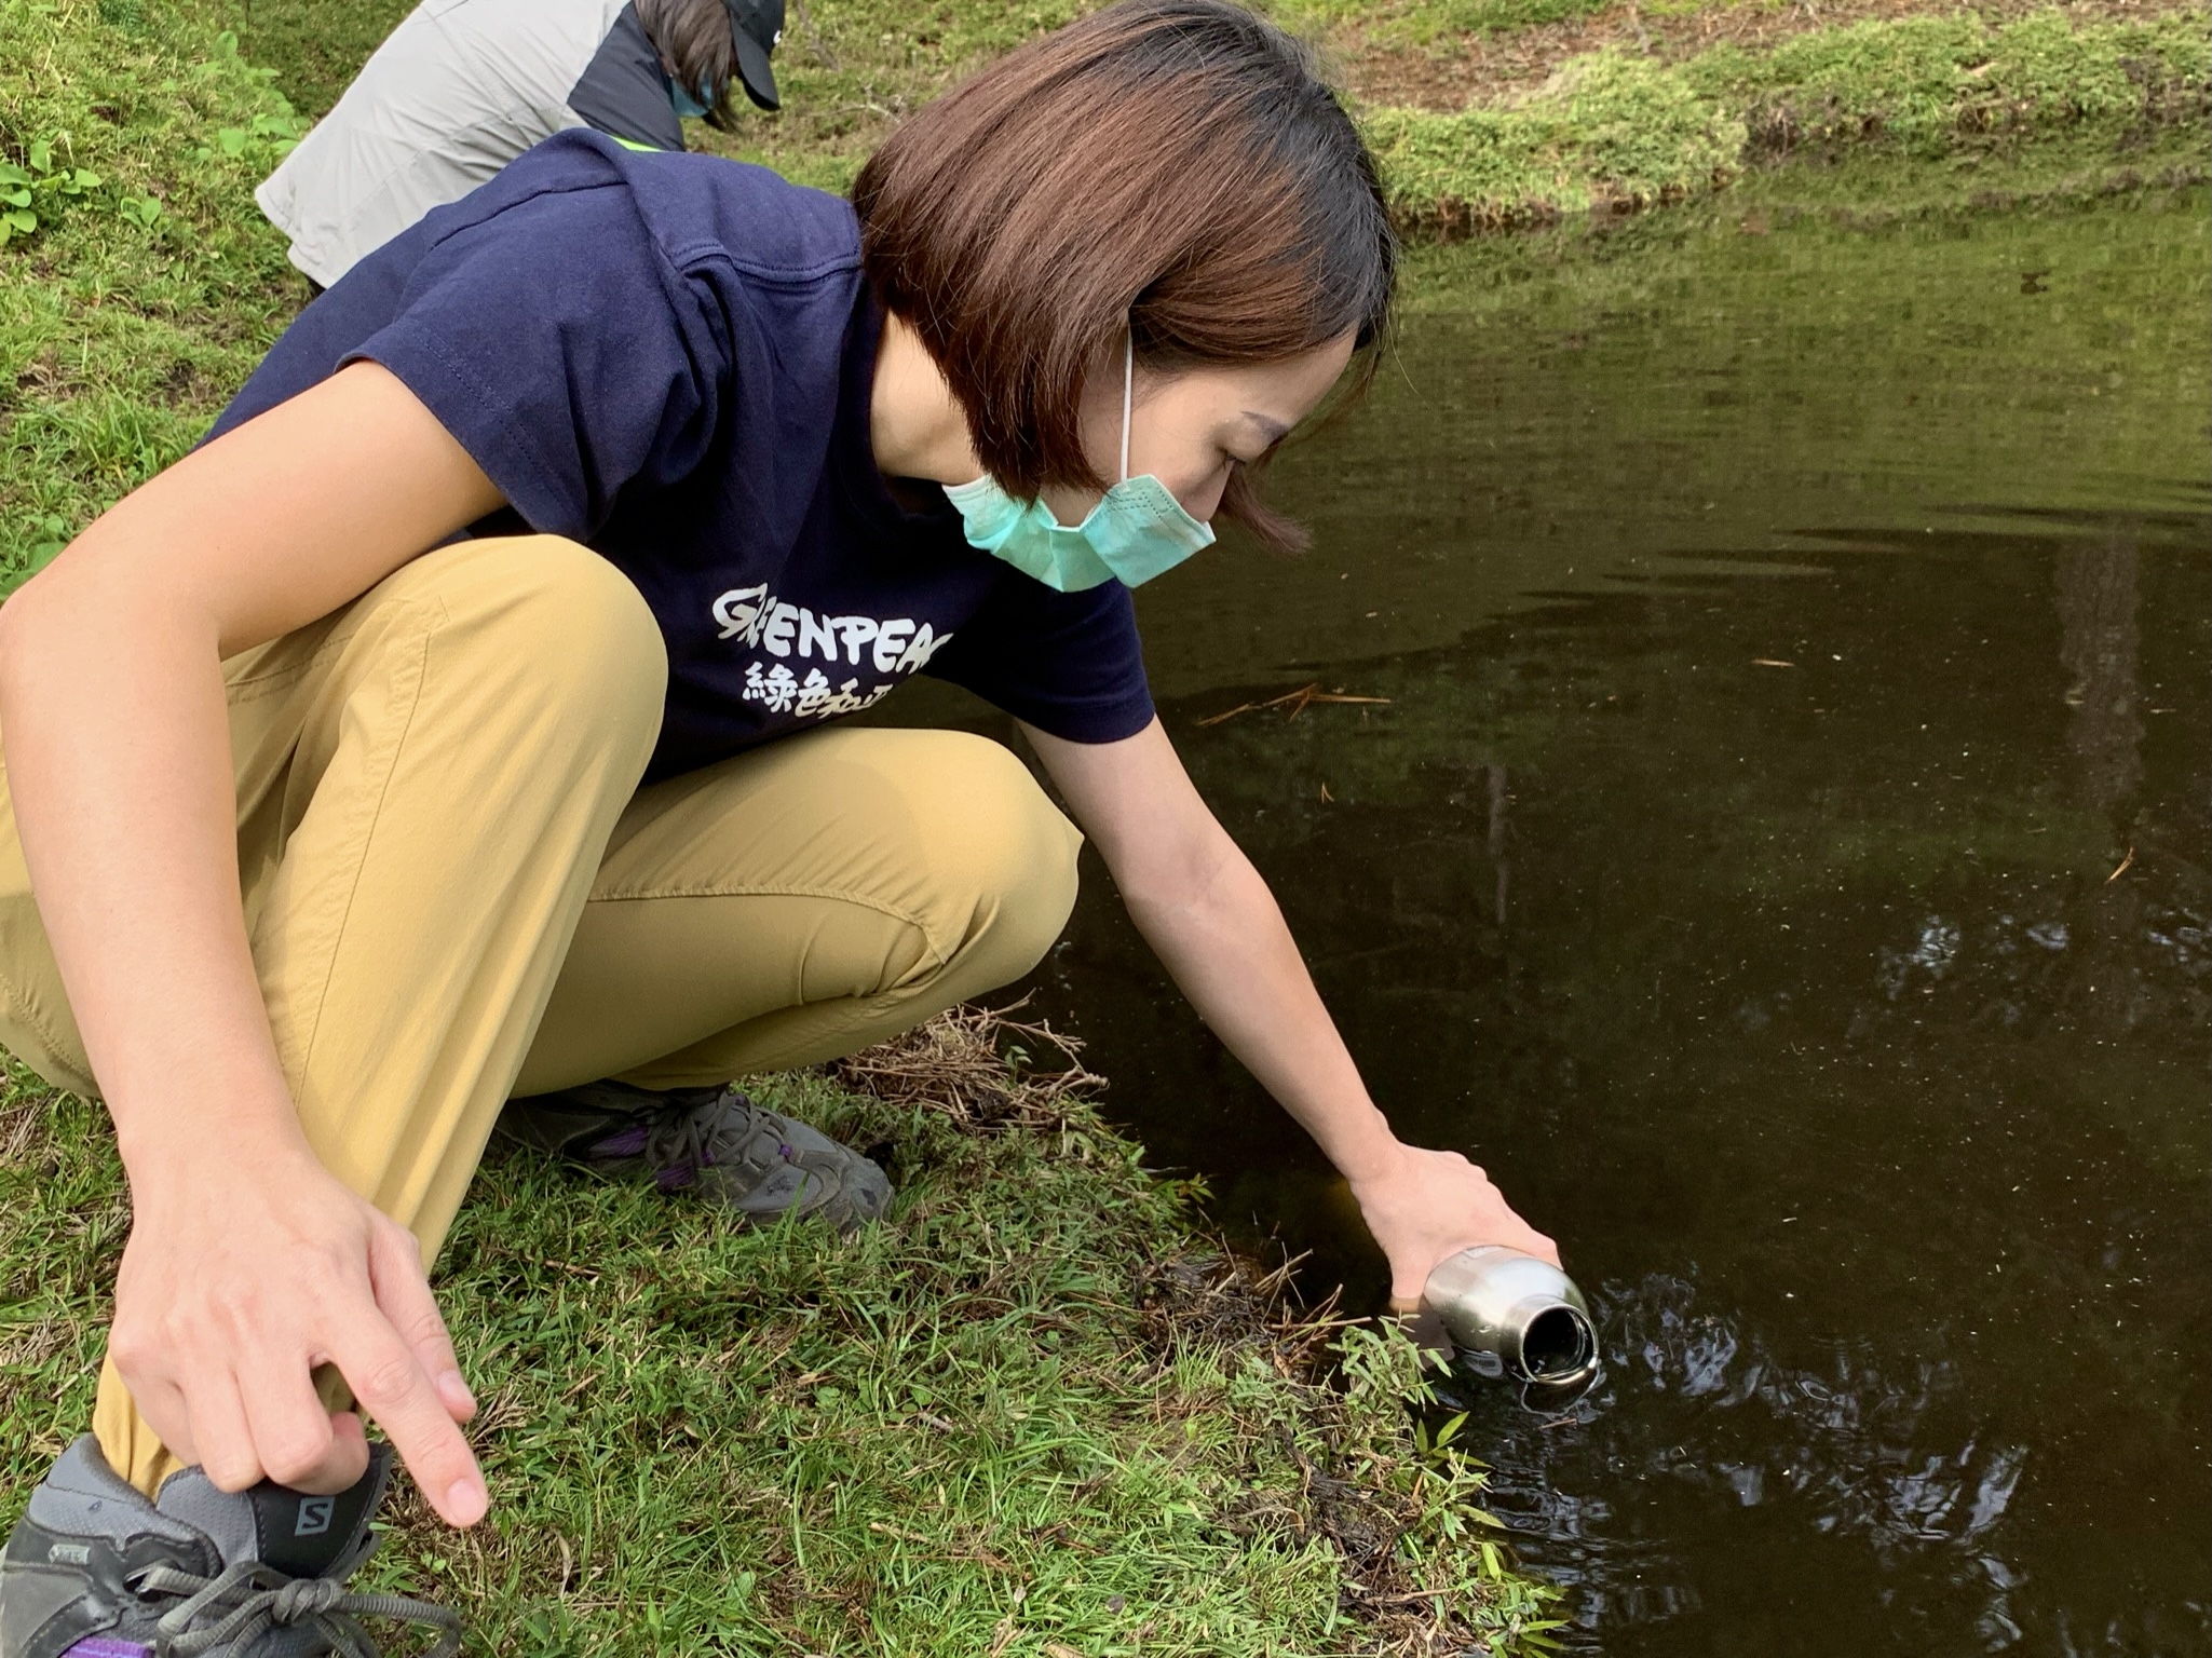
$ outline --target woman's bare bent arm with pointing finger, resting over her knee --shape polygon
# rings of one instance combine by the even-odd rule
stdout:
[[[343,1490],[334,1364],[431,1505],[484,1512],[422,1262],[299,1127],[246,942],[221,659],[330,615],[500,504],[356,363],[115,504],[0,608],[0,736],[40,917],[131,1176],[111,1355],[223,1490]]]

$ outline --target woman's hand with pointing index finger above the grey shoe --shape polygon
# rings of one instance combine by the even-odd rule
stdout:
[[[341,1492],[367,1468],[361,1415],[314,1391],[330,1364],[389,1435],[431,1508],[473,1525],[484,1477],[456,1424],[476,1415],[416,1240],[314,1154],[166,1147],[133,1178],[108,1355],[139,1413],[221,1490],[259,1479]]]

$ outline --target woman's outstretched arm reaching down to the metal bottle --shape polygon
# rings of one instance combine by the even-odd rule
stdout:
[[[1352,1183],[1389,1256],[1394,1300],[1418,1298],[1436,1262],[1480,1242],[1559,1260],[1482,1169],[1391,1134],[1267,882],[1206,809],[1157,718],[1121,743],[1022,730],[1199,1017]]]

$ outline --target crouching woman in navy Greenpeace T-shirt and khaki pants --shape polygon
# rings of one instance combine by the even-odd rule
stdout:
[[[1464,1245],[1548,1253],[1389,1132],[1130,610],[1219,515],[1287,537],[1254,471],[1363,371],[1391,272],[1301,49],[1128,0],[909,119],[849,203],[542,144],[24,586],[0,1039],[106,1101],[133,1231],[0,1656],[349,1616],[363,1419],[482,1517],[425,1262],[502,1108],[745,1214],[880,1214],[872,1165],[723,1081],[1026,973],[1075,825],[1400,1293]],[[1011,712],[1075,825],[982,738],[836,723],[918,672]]]

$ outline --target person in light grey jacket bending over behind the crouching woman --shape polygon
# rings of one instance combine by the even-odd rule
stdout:
[[[681,150],[732,82],[776,108],[781,40],[783,0],[422,0],[254,201],[330,287],[562,128]]]

